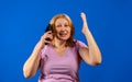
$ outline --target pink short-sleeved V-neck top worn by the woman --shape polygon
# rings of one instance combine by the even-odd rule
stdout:
[[[67,47],[58,56],[52,45],[46,45],[41,52],[41,75],[38,82],[79,82],[79,49],[86,45],[79,40],[75,47]]]

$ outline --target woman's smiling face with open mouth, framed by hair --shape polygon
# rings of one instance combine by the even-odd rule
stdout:
[[[70,37],[70,26],[66,19],[59,17],[55,22],[56,37],[61,40],[67,40]]]

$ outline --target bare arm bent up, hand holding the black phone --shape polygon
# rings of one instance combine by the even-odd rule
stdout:
[[[23,66],[23,73],[24,73],[25,78],[31,78],[31,77],[35,75],[35,73],[40,67],[40,60],[41,60],[40,52],[41,52],[42,48],[44,47],[45,43],[51,43],[51,42],[45,40],[47,35],[48,35],[48,37],[52,38],[50,33],[51,32],[47,32],[41,37],[40,42],[36,44],[35,48],[33,49],[33,52],[31,54],[29,59],[25,61],[25,63]]]

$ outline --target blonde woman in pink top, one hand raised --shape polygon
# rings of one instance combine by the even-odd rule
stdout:
[[[101,63],[101,52],[88,28],[86,14],[80,15],[84,22],[81,32],[89,45],[73,38],[75,28],[68,15],[55,15],[50,23],[52,31],[41,37],[24,63],[25,78],[33,77],[41,68],[38,82],[79,82],[78,69],[81,59],[91,66]],[[46,40],[47,37],[51,40]]]

